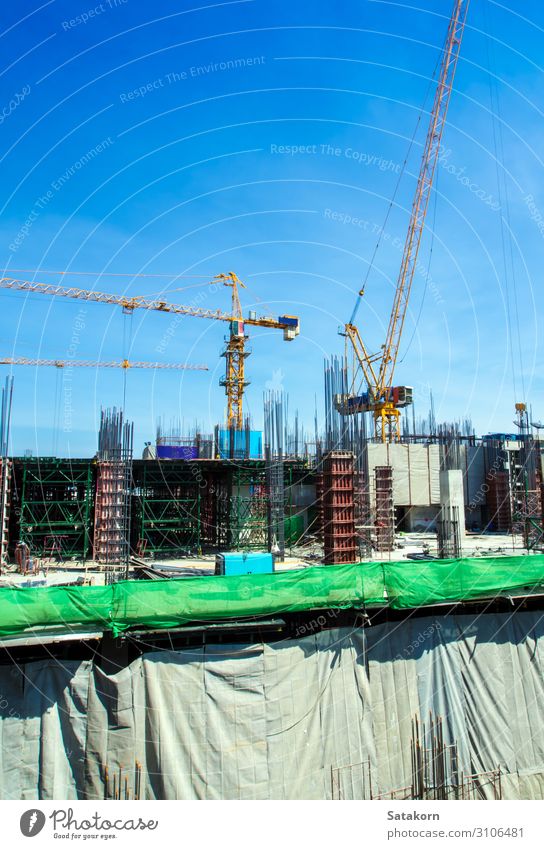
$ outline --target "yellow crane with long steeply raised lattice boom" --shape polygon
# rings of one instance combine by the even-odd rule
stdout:
[[[380,438],[382,442],[400,438],[399,410],[412,403],[412,388],[410,386],[393,386],[393,376],[469,2],[470,0],[454,0],[453,4],[385,343],[378,353],[370,354],[355,324],[355,317],[364,295],[364,289],[359,292],[350,321],[344,328],[344,335],[353,347],[356,366],[351,387],[352,392],[347,395],[337,395],[335,406],[343,415],[372,412],[374,435]],[[367,392],[362,395],[353,394],[359,369],[368,387]]]

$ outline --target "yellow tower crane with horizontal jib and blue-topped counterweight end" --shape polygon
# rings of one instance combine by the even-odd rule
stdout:
[[[253,311],[250,311],[249,315],[244,318],[238,292],[238,287],[242,287],[243,283],[233,271],[228,272],[228,274],[219,274],[210,282],[212,284],[221,282],[232,288],[232,307],[230,312],[223,312],[219,309],[213,310],[203,307],[184,306],[183,304],[169,303],[160,298],[150,299],[139,295],[133,297],[114,295],[89,289],[79,289],[74,286],[55,286],[48,283],[18,280],[12,277],[0,278],[0,288],[23,290],[33,294],[51,295],[53,297],[76,298],[80,301],[94,301],[100,304],[113,304],[123,307],[124,312],[129,313],[135,309],[157,310],[158,312],[174,315],[190,315],[196,318],[228,322],[230,334],[225,351],[226,374],[221,383],[225,386],[227,394],[227,426],[241,429],[243,425],[243,395],[244,388],[247,386],[244,364],[245,358],[248,355],[248,352],[245,350],[245,341],[247,339],[245,335],[246,326],[269,327],[275,330],[283,330],[284,340],[290,342],[300,333],[300,322],[297,316],[280,315],[278,318],[274,318],[273,316],[257,316]]]

